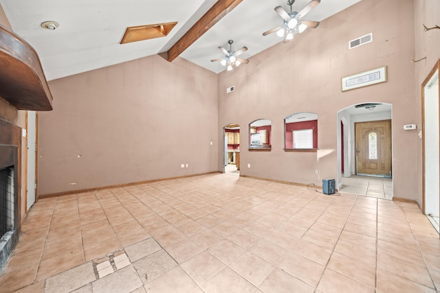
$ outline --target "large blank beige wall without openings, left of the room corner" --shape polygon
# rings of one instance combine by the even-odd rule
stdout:
[[[54,110],[40,113],[39,194],[218,169],[217,75],[206,69],[151,56],[49,86]]]

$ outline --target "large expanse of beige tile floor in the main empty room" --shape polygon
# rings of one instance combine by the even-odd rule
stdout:
[[[436,292],[417,204],[210,174],[39,200],[1,292]]]

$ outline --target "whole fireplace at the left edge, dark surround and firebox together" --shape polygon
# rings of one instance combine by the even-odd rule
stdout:
[[[19,242],[21,128],[0,119],[0,271]]]

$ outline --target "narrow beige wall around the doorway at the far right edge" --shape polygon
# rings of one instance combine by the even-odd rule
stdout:
[[[427,27],[440,25],[439,19],[440,1],[437,0],[415,0],[415,59],[426,57],[425,60],[417,62],[416,68],[416,97],[418,125],[421,130],[421,84],[430,73],[434,64],[440,59],[440,30],[429,30],[424,32],[423,24]],[[421,161],[421,143],[417,145],[417,156],[419,161],[417,167],[420,170],[418,174],[417,186],[419,192],[417,202],[421,204],[422,196],[422,161]]]

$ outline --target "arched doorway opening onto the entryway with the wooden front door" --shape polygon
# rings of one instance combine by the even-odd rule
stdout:
[[[392,116],[392,105],[380,102],[355,104],[338,111],[340,192],[393,198]]]

